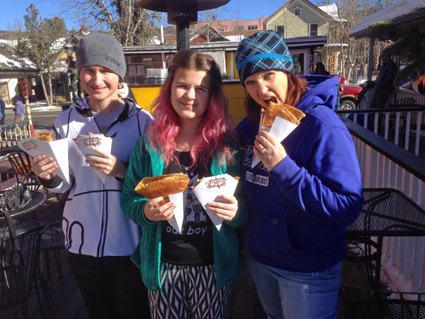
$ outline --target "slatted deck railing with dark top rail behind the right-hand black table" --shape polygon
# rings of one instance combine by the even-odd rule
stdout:
[[[398,189],[425,208],[425,159],[363,125],[341,119],[356,146],[363,187]],[[385,237],[382,266],[399,291],[425,292],[425,238]]]

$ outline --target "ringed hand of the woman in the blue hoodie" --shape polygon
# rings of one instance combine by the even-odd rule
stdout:
[[[255,136],[254,146],[254,154],[261,160],[268,172],[287,155],[283,145],[265,130],[260,130],[259,134]]]

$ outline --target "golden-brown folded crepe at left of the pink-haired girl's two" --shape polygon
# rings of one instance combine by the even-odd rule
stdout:
[[[166,174],[155,177],[145,177],[135,187],[137,193],[148,199],[163,197],[158,206],[169,202],[169,195],[181,193],[187,189],[189,178],[186,174]]]

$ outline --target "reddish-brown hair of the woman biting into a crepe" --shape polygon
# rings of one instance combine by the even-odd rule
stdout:
[[[285,74],[288,77],[288,92],[284,103],[296,106],[302,94],[305,94],[305,91],[307,91],[307,79],[297,77],[295,74],[288,72],[285,72]],[[249,121],[259,121],[261,106],[249,95],[245,99],[245,111]]]

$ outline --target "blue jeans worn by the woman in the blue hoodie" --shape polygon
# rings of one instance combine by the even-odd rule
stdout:
[[[321,272],[286,272],[246,257],[268,319],[336,318],[342,262]]]

